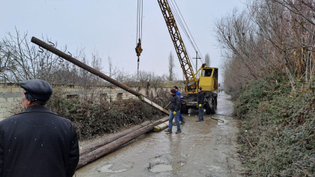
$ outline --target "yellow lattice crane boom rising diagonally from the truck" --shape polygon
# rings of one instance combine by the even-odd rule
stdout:
[[[170,32],[172,42],[175,46],[180,66],[182,67],[182,71],[184,72],[184,76],[186,79],[186,92],[187,93],[195,92],[197,91],[197,78],[194,74],[194,70],[192,69],[192,64],[190,64],[186,47],[184,46],[182,36],[180,35],[179,30],[177,28],[177,24],[173,16],[172,10],[170,8],[170,5],[168,4],[167,0],[157,1],[160,5],[163,17],[165,19],[165,23],[167,25],[167,29]]]

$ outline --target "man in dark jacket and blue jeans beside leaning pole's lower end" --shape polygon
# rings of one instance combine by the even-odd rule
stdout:
[[[173,127],[173,118],[175,118],[175,122],[177,125],[177,131],[176,134],[179,132],[182,132],[180,130],[180,123],[179,123],[179,113],[180,113],[180,98],[176,94],[176,90],[172,89],[170,91],[170,94],[172,95],[171,103],[170,103],[170,117],[168,119],[168,129],[165,130],[167,133],[172,133],[172,127]]]

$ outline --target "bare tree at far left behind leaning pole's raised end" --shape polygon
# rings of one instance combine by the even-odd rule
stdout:
[[[43,40],[57,47],[57,42],[51,42],[48,38]],[[67,46],[61,50],[67,52]],[[67,53],[72,55],[70,52]],[[78,50],[72,57],[89,64],[84,50]],[[101,57],[97,52],[92,53],[91,65],[94,69],[101,70]],[[21,35],[17,29],[14,35],[8,33],[0,41],[0,76],[1,81],[5,82],[43,79],[52,84],[100,83],[99,77],[94,74],[67,62],[48,50],[31,45],[27,33]]]

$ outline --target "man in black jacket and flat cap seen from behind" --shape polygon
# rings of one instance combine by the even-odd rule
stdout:
[[[73,176],[77,133],[70,120],[44,106],[52,87],[39,79],[20,86],[26,110],[0,122],[0,176]]]

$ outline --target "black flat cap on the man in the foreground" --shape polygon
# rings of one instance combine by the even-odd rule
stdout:
[[[48,101],[52,94],[52,87],[47,81],[33,79],[21,81],[20,86],[26,91],[28,101]]]

